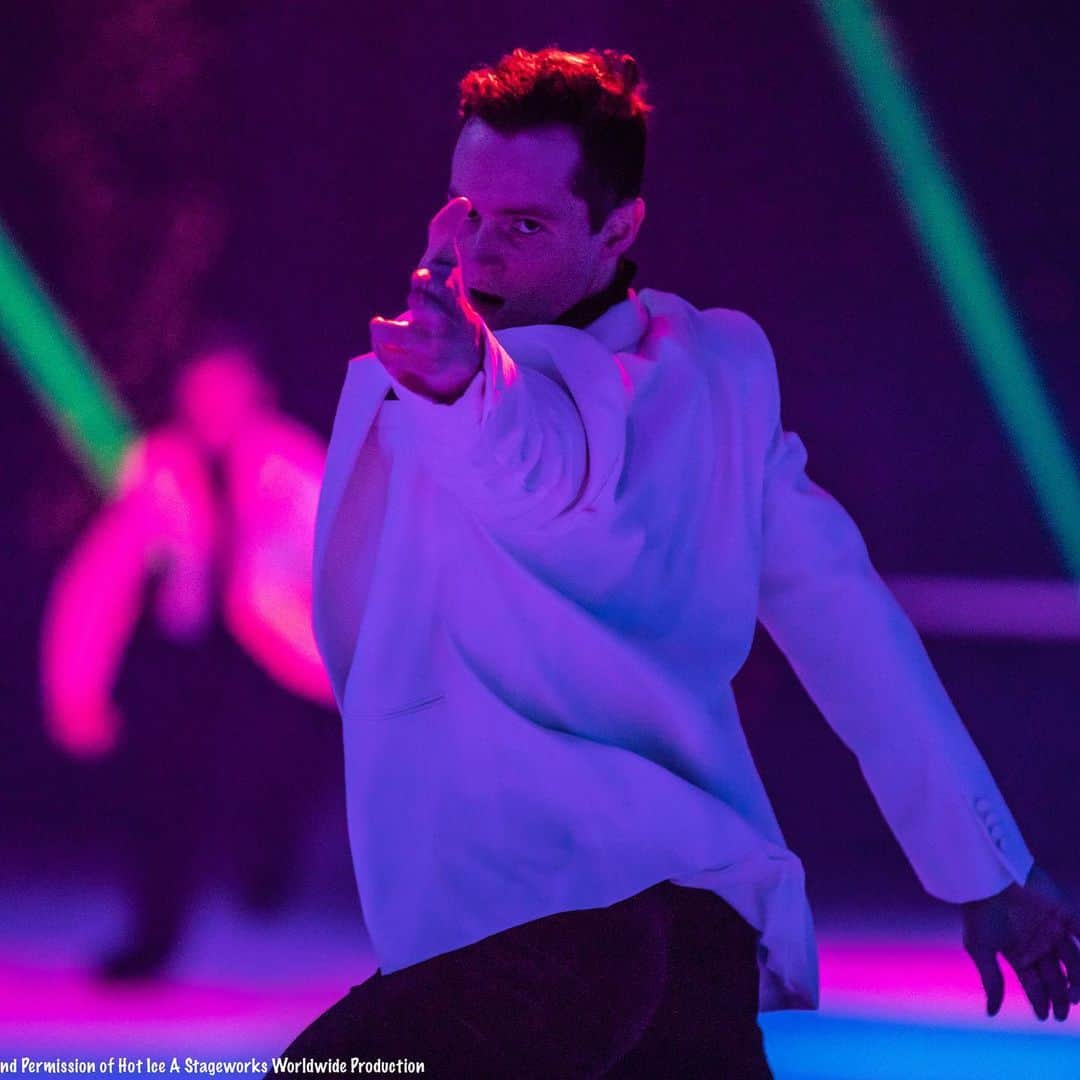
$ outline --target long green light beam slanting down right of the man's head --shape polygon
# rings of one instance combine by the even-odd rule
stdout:
[[[1080,578],[1080,476],[963,198],[934,147],[873,0],[818,0],[916,235],[1069,572]]]

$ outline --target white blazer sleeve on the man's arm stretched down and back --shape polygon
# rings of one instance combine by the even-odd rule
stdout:
[[[922,887],[959,903],[1023,882],[1032,858],[919,636],[843,508],[806,474],[780,422],[760,328],[769,415],[759,618],[851,750]]]

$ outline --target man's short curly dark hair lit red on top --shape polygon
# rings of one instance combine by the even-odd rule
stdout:
[[[459,113],[504,134],[566,124],[581,144],[570,190],[598,232],[616,206],[640,194],[645,172],[645,83],[637,62],[612,49],[568,53],[515,49],[471,70],[459,85]]]

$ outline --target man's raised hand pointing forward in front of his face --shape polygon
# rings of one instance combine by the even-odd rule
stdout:
[[[471,208],[451,199],[432,218],[428,249],[413,271],[408,311],[372,320],[372,348],[402,386],[434,401],[456,400],[484,364],[484,321],[461,284],[457,234]]]

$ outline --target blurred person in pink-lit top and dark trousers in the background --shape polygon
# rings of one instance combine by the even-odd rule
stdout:
[[[219,336],[181,368],[173,419],[131,447],[56,575],[46,729],[78,757],[116,752],[134,910],[106,977],[162,969],[215,854],[249,907],[286,899],[328,765],[315,728],[333,699],[310,620],[324,460],[249,347]]]

